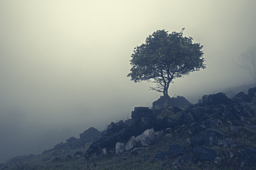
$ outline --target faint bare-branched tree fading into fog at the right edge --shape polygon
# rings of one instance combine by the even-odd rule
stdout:
[[[239,58],[234,61],[235,65],[250,73],[256,84],[256,47],[250,48],[247,52],[242,53]]]

